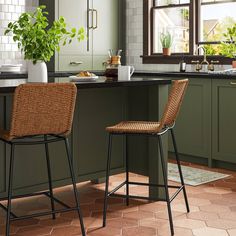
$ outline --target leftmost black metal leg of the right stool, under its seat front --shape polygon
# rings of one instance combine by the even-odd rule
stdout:
[[[112,149],[112,134],[109,133],[107,169],[106,169],[106,187],[105,187],[104,208],[103,208],[103,227],[106,226],[108,187],[109,187],[109,176],[110,176],[110,167],[111,167],[111,149]]]

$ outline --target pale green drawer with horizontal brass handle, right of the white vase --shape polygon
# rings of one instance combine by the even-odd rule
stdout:
[[[59,71],[81,71],[92,69],[91,56],[71,56],[59,55],[58,70]]]

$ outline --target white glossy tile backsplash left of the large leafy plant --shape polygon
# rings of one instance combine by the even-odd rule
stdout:
[[[23,64],[23,55],[11,36],[4,36],[4,31],[9,22],[18,19],[23,12],[34,11],[38,0],[0,0],[0,65]]]

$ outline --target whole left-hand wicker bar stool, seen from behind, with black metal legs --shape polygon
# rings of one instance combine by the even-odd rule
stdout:
[[[56,213],[71,210],[78,211],[81,232],[82,235],[85,236],[85,229],[79,205],[79,194],[76,188],[73,161],[67,137],[71,132],[76,93],[77,88],[72,83],[23,84],[19,85],[15,90],[10,130],[0,131],[0,139],[11,146],[7,207],[1,204],[1,207],[7,211],[6,236],[9,236],[10,234],[11,221],[50,214],[52,215],[52,218],[55,219]],[[48,144],[57,141],[64,141],[65,143],[76,202],[75,207],[68,206],[53,195]],[[13,167],[15,147],[17,145],[38,144],[45,145],[49,191],[13,196],[12,183],[14,176]],[[50,198],[51,211],[24,216],[16,216],[11,212],[12,199],[40,194]],[[55,210],[54,202],[61,204],[64,208]]]

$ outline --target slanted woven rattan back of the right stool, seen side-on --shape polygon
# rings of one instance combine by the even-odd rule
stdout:
[[[160,121],[160,130],[165,126],[171,126],[174,124],[179,113],[187,86],[188,79],[174,80],[172,82],[168,103],[166,104],[163,116]]]

